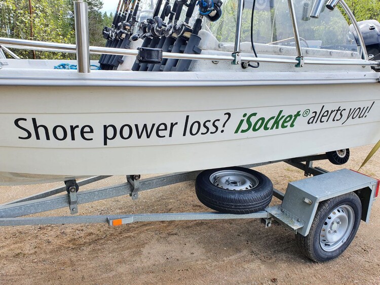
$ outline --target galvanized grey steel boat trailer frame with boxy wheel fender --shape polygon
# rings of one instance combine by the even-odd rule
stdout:
[[[368,223],[372,203],[378,194],[380,181],[348,169],[341,169],[334,172],[328,172],[321,168],[313,167],[313,160],[320,159],[326,159],[326,155],[319,154],[283,160],[287,164],[296,167],[302,171],[305,171],[305,176],[308,177],[313,175],[314,177],[290,182],[287,186],[287,190],[285,193],[282,193],[281,191],[274,189],[273,196],[280,199],[282,203],[276,206],[267,207],[264,210],[256,213],[242,215],[225,214],[219,212],[94,216],[75,215],[79,213],[79,205],[83,203],[89,203],[93,201],[123,195],[129,195],[132,197],[132,199],[137,199],[138,194],[141,191],[159,188],[180,182],[195,180],[197,176],[201,173],[201,171],[193,171],[162,175],[147,179],[140,179],[139,175],[129,175],[126,177],[126,183],[99,189],[84,190],[80,192],[78,192],[78,190],[81,186],[108,178],[110,176],[97,176],[79,182],[76,182],[75,180],[66,181],[65,186],[63,187],[58,187],[46,192],[8,202],[4,205],[0,205],[0,226],[80,223],[108,223],[109,226],[120,226],[133,222],[257,218],[260,219],[260,221],[265,225],[265,227],[270,227],[272,223],[281,224],[284,227],[296,233],[297,237],[305,238],[309,235],[311,229],[313,228],[319,211],[318,206],[322,202],[327,203],[333,201],[334,199],[339,200],[339,197],[341,199],[344,199],[345,196],[352,193],[355,193],[356,196],[360,199],[359,204],[361,204],[361,213],[359,213],[359,223],[360,220],[363,220],[366,223]],[[275,162],[280,161],[270,161],[255,165],[247,165],[244,166],[244,168],[249,169],[253,167],[273,164]],[[56,195],[63,192],[67,193],[62,195]],[[349,203],[349,205],[351,204]],[[351,210],[354,207],[350,206],[347,208],[346,206],[340,205],[339,207],[335,207],[336,209],[334,209],[331,213],[337,214],[337,216],[339,216],[337,212],[344,212],[344,209],[347,209],[348,212],[352,212]],[[72,216],[26,218],[23,217],[26,215],[56,210],[65,207],[69,207]],[[329,222],[329,220],[331,219],[330,216],[332,216],[332,214],[328,216],[326,220],[327,222]],[[322,228],[319,230],[321,232],[327,230],[327,232],[329,233],[331,232],[331,230],[333,230],[334,233],[338,233],[338,227],[345,223],[347,224],[346,227],[355,228],[355,225],[353,225],[353,221],[349,221],[350,214],[353,213],[346,213],[345,215],[343,215],[343,213],[340,214],[341,217],[337,217],[335,219],[336,221],[332,222],[332,224],[329,225],[329,229]],[[332,217],[331,220],[334,220],[334,217]],[[326,224],[327,222],[322,224]],[[358,228],[359,224],[356,227]],[[322,234],[322,236],[324,236],[324,234]],[[341,238],[343,238],[341,242],[344,243],[348,239],[348,236],[343,235]],[[326,245],[328,243],[329,241],[327,239]],[[341,252],[339,253],[339,255],[340,254]],[[326,257],[322,259],[318,257],[316,258],[310,254],[308,256],[316,261],[326,261],[328,259],[332,259],[326,259]]]

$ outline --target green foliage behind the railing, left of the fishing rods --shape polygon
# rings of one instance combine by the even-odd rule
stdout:
[[[90,45],[104,46],[101,31],[112,14],[102,14],[101,0],[87,0],[89,6]],[[73,0],[0,0],[0,37],[75,44]],[[30,28],[32,21],[32,32]],[[21,58],[33,58],[32,51],[14,50]],[[35,52],[37,59],[73,59],[73,54]]]

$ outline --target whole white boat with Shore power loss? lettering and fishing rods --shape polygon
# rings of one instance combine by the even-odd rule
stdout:
[[[89,47],[78,5],[77,45],[0,38],[0,185],[256,164],[379,139],[380,25],[358,23],[343,0],[159,0],[141,22],[149,7],[121,1],[106,47]],[[67,64],[78,70],[10,49],[77,53]]]

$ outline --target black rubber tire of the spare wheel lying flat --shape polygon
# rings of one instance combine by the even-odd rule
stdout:
[[[221,171],[245,173],[254,177],[257,185],[252,185],[253,188],[246,187],[242,190],[229,190],[218,187],[220,185],[214,185],[210,177]],[[215,211],[229,214],[250,214],[262,211],[268,207],[273,196],[273,184],[267,176],[242,167],[205,170],[198,175],[195,190],[198,199],[203,205]]]

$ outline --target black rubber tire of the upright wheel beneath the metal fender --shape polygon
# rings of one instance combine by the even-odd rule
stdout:
[[[326,221],[329,220],[329,218],[332,220],[335,219],[333,215],[339,215],[340,212],[337,213],[335,209],[346,209],[339,207],[350,207],[352,209],[354,213],[354,217],[352,218],[352,229],[350,229],[350,227],[347,227],[347,237],[345,238],[346,240],[338,239],[336,242],[331,243],[331,245],[329,245],[328,242],[324,244],[324,241],[326,241],[326,239],[324,239],[326,238],[326,235],[324,235],[326,233],[326,230],[322,231],[322,227],[326,227]],[[322,201],[318,206],[309,234],[307,236],[302,236],[299,233],[296,234],[298,246],[308,258],[317,262],[325,262],[337,258],[350,246],[350,243],[354,239],[360,225],[361,213],[362,205],[360,199],[353,192]],[[346,213],[346,215],[348,215],[348,213]],[[331,251],[326,251],[322,247],[321,243],[324,244],[325,248],[328,248],[330,246],[338,248],[335,250],[332,248]]]

